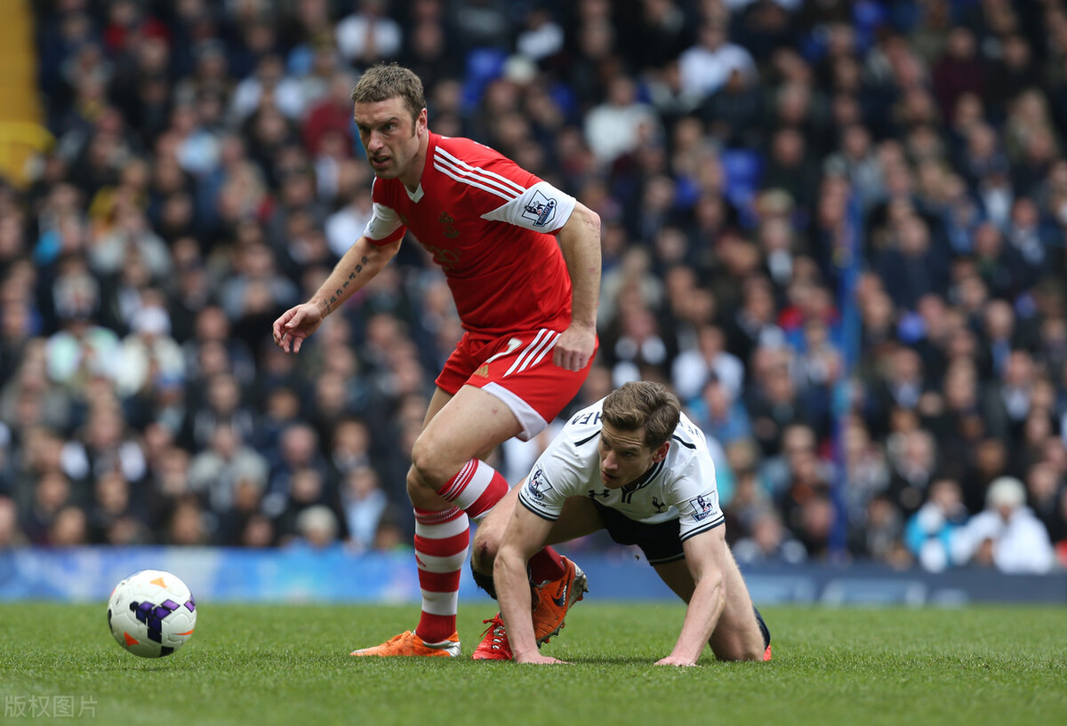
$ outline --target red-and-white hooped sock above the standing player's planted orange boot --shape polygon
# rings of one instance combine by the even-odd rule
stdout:
[[[415,562],[423,591],[415,634],[427,643],[441,643],[456,632],[460,572],[469,544],[471,526],[463,510],[415,510]]]

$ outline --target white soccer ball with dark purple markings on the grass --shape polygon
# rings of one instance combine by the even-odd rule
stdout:
[[[108,627],[118,645],[134,656],[170,656],[192,636],[196,602],[176,576],[142,569],[111,592]]]

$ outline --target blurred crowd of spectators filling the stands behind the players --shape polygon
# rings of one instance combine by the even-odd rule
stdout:
[[[461,329],[361,233],[361,70],[603,221],[601,348],[712,439],[743,563],[1067,565],[1063,0],[50,0],[0,189],[0,547],[410,542]],[[510,482],[551,438],[509,442]],[[599,547],[589,542],[585,546]]]

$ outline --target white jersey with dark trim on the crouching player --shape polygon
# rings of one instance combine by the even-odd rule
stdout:
[[[555,521],[569,497],[589,497],[635,521],[680,522],[684,542],[724,521],[715,484],[715,465],[703,432],[685,414],[670,438],[664,461],[618,489],[600,477],[600,433],[604,400],[571,417],[534,465],[519,501]]]

